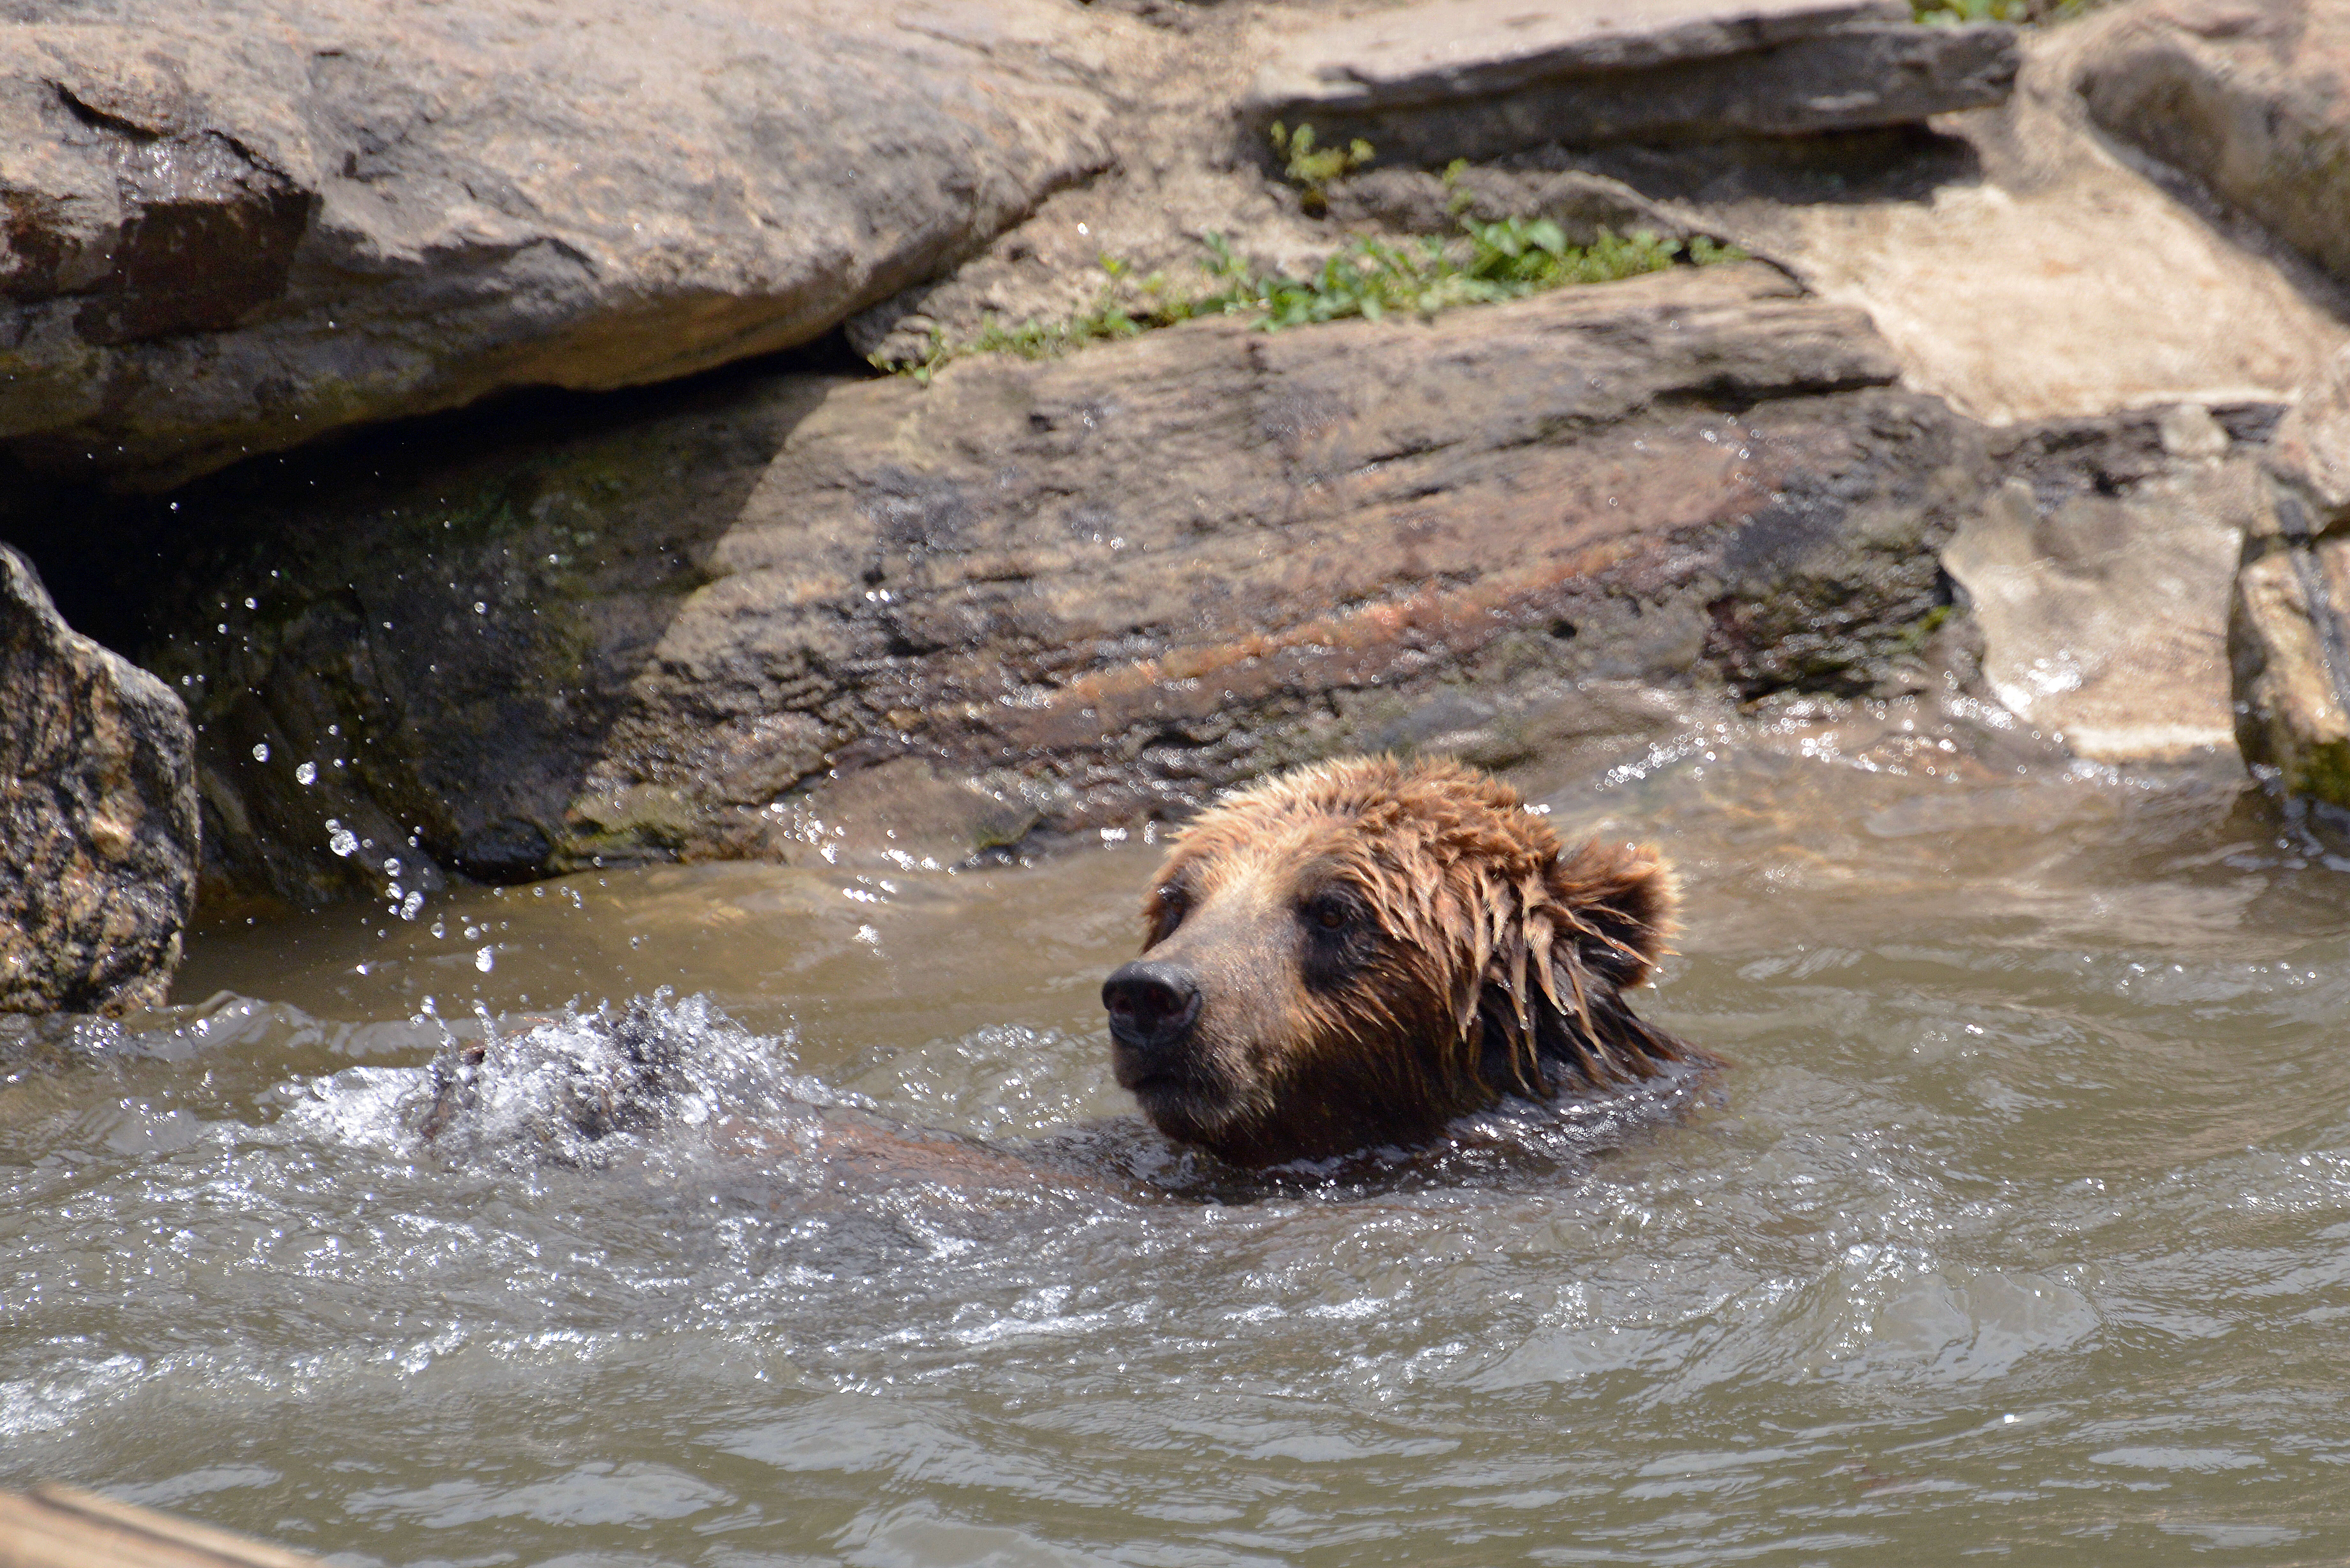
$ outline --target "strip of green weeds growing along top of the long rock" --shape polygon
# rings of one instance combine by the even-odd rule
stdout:
[[[1130,339],[1152,327],[1173,327],[1203,315],[1246,315],[1264,331],[1309,327],[1347,317],[1379,320],[1389,313],[1429,317],[1459,306],[1525,299],[1577,282],[1614,282],[1661,273],[1687,261],[1716,266],[1746,261],[1734,244],[1704,235],[1680,242],[1647,230],[1614,235],[1600,230],[1591,244],[1570,244],[1549,219],[1459,221],[1459,235],[1426,240],[1349,240],[1304,277],[1257,273],[1222,235],[1208,235],[1198,263],[1201,289],[1177,289],[1166,273],[1140,282],[1123,261],[1102,256],[1109,282],[1093,306],[1060,322],[1006,327],[989,317],[980,331],[949,341],[931,331],[931,350],[919,364],[881,364],[928,383],[938,369],[968,355],[1008,353],[1048,360],[1086,343]]]

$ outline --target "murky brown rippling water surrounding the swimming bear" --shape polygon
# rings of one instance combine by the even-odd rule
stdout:
[[[700,1112],[451,1159],[400,1110],[428,999],[479,1032],[667,985],[740,1025],[674,1013],[714,1098],[1006,1147],[1121,1117],[1140,842],[209,931],[179,994],[219,997],[0,1088],[0,1481],[345,1563],[2350,1554],[2338,846],[1795,741],[1553,804],[1680,860],[1647,1009],[1737,1058],[1716,1100],[1227,1201],[1133,1124],[926,1185]]]

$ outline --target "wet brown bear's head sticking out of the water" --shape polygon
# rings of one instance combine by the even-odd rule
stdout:
[[[1676,929],[1657,851],[1567,853],[1457,762],[1325,762],[1224,799],[1175,839],[1142,924],[1102,985],[1119,1084],[1241,1166],[1708,1060],[1624,1001]]]

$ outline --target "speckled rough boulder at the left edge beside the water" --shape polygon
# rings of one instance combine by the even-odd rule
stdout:
[[[195,736],[0,545],[0,1013],[162,1001],[195,907]]]

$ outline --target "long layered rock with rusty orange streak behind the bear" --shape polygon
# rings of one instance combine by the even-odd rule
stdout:
[[[169,527],[237,543],[164,567],[148,656],[240,886],[794,856],[884,806],[968,851],[1344,748],[1523,759],[1636,722],[1610,682],[1913,689],[1983,477],[1894,374],[1725,266],[764,376],[190,494]]]

